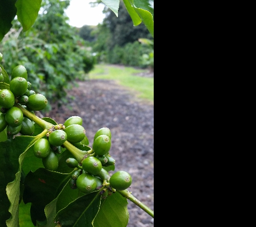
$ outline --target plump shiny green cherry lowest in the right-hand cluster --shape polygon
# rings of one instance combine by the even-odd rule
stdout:
[[[91,193],[97,187],[97,180],[91,174],[82,173],[77,178],[77,187],[82,193]]]

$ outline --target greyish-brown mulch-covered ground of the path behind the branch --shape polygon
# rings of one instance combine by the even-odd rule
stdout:
[[[154,77],[154,73],[136,76]],[[54,116],[57,123],[64,123],[71,116],[82,117],[89,146],[95,132],[108,127],[112,133],[109,153],[116,160],[114,172],[130,173],[133,183],[129,191],[154,210],[154,104],[139,100],[115,81],[77,82],[79,87],[68,92],[69,103],[52,109],[45,116]],[[154,226],[154,218],[129,200],[128,212],[128,227]]]

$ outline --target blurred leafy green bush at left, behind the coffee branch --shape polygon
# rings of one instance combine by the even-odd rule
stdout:
[[[51,109],[53,102],[65,103],[75,79],[84,79],[95,64],[85,41],[74,36],[74,28],[66,23],[64,9],[68,5],[69,1],[43,1],[42,13],[29,31],[21,32],[18,20],[13,20],[12,30],[0,43],[5,53],[3,66],[25,66],[32,89],[47,94],[50,105],[46,110]]]

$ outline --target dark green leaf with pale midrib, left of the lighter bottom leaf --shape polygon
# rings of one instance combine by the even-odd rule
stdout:
[[[92,227],[92,221],[99,211],[100,200],[98,191],[81,196],[60,210],[55,221],[66,227]]]

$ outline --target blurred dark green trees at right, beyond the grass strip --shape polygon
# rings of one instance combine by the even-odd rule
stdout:
[[[140,24],[139,16],[137,16],[139,22],[138,18],[130,17],[127,11],[129,4],[127,1],[120,2],[118,18],[112,10],[105,10],[106,18],[103,20],[103,24],[98,25],[97,29],[92,32],[96,37],[96,41],[93,42],[93,50],[97,53],[98,62],[153,68],[154,58],[150,58],[151,61],[149,61],[149,54],[153,52],[153,46],[145,46],[139,42],[140,39],[148,39],[153,42],[153,39],[147,27]],[[134,11],[132,7],[128,9]],[[136,23],[139,24],[133,26]]]

